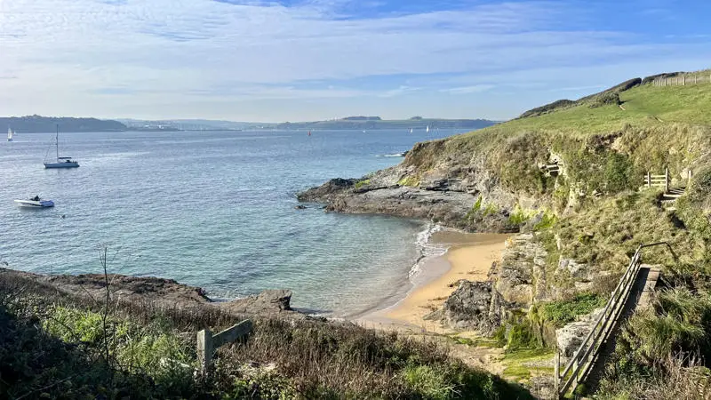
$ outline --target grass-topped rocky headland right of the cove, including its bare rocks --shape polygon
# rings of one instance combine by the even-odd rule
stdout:
[[[331,180],[299,199],[324,203],[326,211],[524,232],[511,238],[490,283],[460,283],[431,316],[492,335],[514,352],[555,346],[556,330],[559,342],[579,343],[571,332],[589,332],[635,248],[667,242],[678,260],[658,250],[644,256],[659,265],[666,286],[622,328],[611,356],[649,374],[617,371],[601,390],[616,397],[630,393],[629,382],[638,385],[634,396],[672,390],[666,382],[693,386],[708,375],[680,365],[711,346],[703,317],[711,313],[710,72],[634,78],[507,123],[418,143],[401,164]],[[648,173],[667,173],[668,188],[647,186]]]

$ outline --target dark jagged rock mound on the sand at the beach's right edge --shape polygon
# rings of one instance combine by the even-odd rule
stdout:
[[[507,318],[507,308],[491,282],[459,281],[459,287],[443,308],[426,316],[459,330],[475,330],[491,336]]]

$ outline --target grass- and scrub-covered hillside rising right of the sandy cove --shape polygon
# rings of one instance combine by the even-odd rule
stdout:
[[[534,230],[548,252],[544,276],[555,298],[533,304],[529,320],[502,332],[528,330],[534,337],[537,326],[560,326],[561,316],[546,312],[551,308],[588,312],[580,299],[607,298],[638,244],[671,243],[678,260],[662,250],[645,252],[645,262],[663,267],[664,284],[654,307],[623,329],[617,364],[610,365],[597,396],[704,398],[702,390],[711,390],[709,110],[709,83],[637,84],[558,101],[531,116],[419,144],[403,162],[415,168],[402,181],[419,182],[442,170],[459,179],[486,176],[483,186],[503,188],[521,202],[497,203],[505,197],[484,190],[470,212],[484,218],[491,210],[506,211],[512,223]],[[554,159],[563,162],[558,176],[539,167]],[[662,189],[643,188],[646,172],[665,168],[674,186],[687,187],[675,210],[660,202]],[[572,276],[561,260],[583,263],[597,278]],[[527,346],[543,341],[527,340]]]

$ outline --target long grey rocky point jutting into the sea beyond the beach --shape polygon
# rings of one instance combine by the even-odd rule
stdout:
[[[483,156],[457,160],[442,157],[424,171],[415,164],[437,151],[441,141],[416,144],[403,164],[374,172],[363,179],[334,179],[297,195],[300,202],[325,204],[327,212],[387,214],[435,220],[454,228],[479,232],[515,232],[507,210],[535,201],[502,189]],[[467,165],[464,167],[463,165]],[[472,212],[482,198],[495,204],[491,212]]]

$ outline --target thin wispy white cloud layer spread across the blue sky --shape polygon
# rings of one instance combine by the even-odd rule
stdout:
[[[629,60],[643,66],[674,54],[709,59],[704,44],[644,44],[628,32],[555,30],[559,20],[582,12],[560,3],[345,18],[356,6],[363,4],[0,0],[0,103],[16,114],[111,116],[115,109],[169,106],[207,113],[215,102],[228,109],[231,101],[248,100],[475,95],[493,92],[492,85],[546,86],[560,79],[553,70],[565,76]],[[378,76],[408,77],[380,88],[348,86],[348,80]],[[585,78],[578,78],[582,85],[605,83]]]

